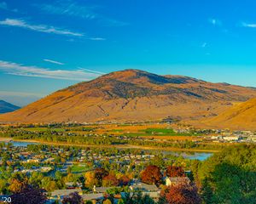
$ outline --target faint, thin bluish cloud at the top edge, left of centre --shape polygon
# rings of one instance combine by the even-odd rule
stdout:
[[[96,20],[103,26],[126,26],[128,23],[115,20],[96,11],[98,6],[85,6],[75,3],[72,0],[61,0],[52,4],[35,4],[48,14],[61,14],[78,17],[86,20]]]

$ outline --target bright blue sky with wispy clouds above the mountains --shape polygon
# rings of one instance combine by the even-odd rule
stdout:
[[[0,99],[128,68],[256,87],[253,0],[0,0]]]

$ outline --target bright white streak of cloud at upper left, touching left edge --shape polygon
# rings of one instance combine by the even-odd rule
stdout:
[[[56,28],[54,26],[32,25],[32,24],[27,23],[25,20],[6,19],[6,20],[0,21],[0,25],[15,26],[15,27],[29,29],[29,30],[32,30],[32,31],[53,33],[53,34],[56,34],[56,35],[84,37],[84,33],[63,30],[63,29],[60,29],[60,28]]]

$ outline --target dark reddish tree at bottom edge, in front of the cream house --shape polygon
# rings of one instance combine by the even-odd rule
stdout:
[[[168,186],[160,192],[161,201],[169,204],[200,204],[201,197],[195,184],[177,184]]]

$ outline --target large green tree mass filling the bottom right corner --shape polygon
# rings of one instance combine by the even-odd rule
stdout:
[[[205,202],[210,193],[213,203],[256,203],[255,147],[255,144],[231,146],[202,162],[198,178]]]

